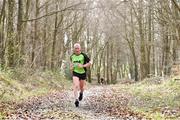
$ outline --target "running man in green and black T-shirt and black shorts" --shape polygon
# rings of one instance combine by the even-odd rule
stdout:
[[[91,61],[85,53],[81,52],[81,45],[79,43],[74,44],[74,53],[70,56],[70,60],[70,69],[73,76],[73,92],[75,97],[74,104],[76,107],[79,107],[79,101],[83,99],[83,91],[86,79],[86,68],[91,65]]]

